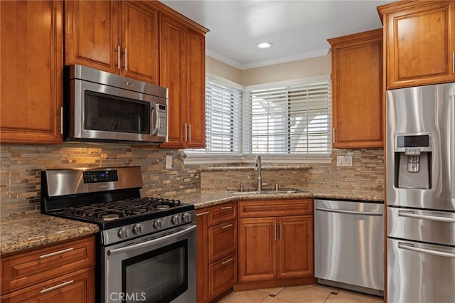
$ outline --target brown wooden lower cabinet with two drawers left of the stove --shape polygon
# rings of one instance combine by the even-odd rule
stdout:
[[[1,303],[95,302],[95,235],[1,257]]]

